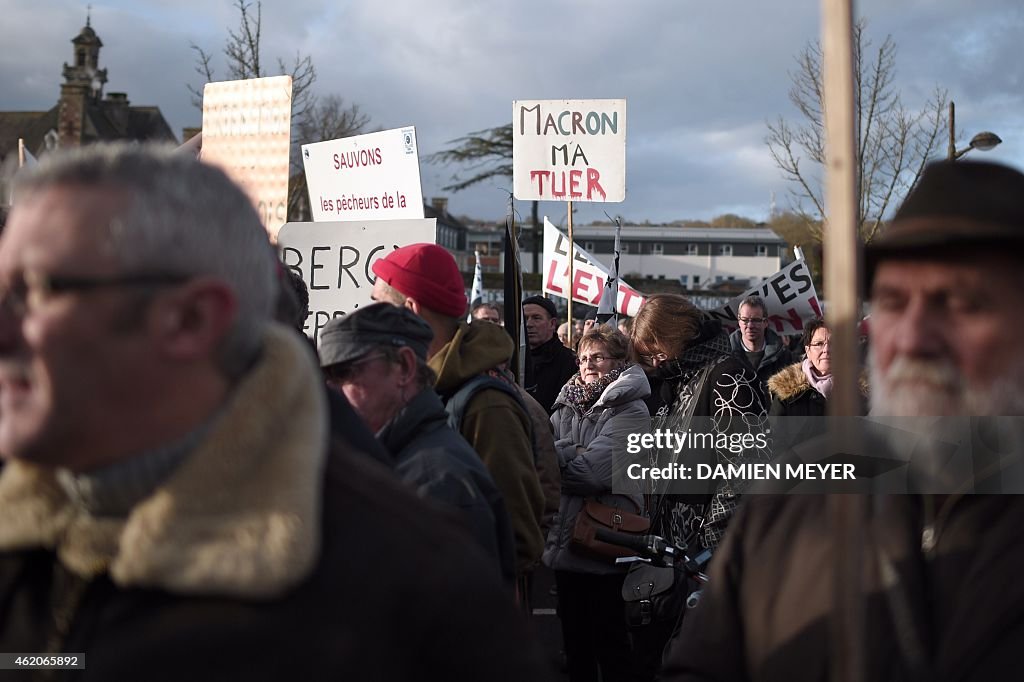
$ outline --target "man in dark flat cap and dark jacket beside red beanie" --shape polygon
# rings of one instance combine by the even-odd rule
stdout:
[[[515,579],[512,528],[501,494],[466,439],[447,425],[427,347],[434,334],[407,308],[375,303],[328,323],[321,367],[422,498],[461,516],[505,581]]]

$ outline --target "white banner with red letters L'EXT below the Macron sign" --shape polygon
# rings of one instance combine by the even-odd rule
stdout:
[[[569,240],[560,229],[544,218],[544,293],[568,298],[569,291]],[[575,255],[572,265],[572,300],[587,305],[598,305],[609,276],[599,260],[572,245]],[[618,297],[615,310],[631,317],[644,302],[643,294],[618,280]]]

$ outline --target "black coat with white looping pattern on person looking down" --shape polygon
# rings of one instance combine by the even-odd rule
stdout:
[[[705,371],[707,380],[694,395]],[[665,406],[652,420],[652,431],[684,431],[684,416],[693,400],[696,400],[694,423],[700,430],[757,435],[766,429],[768,409],[758,388],[757,375],[732,352],[729,337],[718,323],[705,323],[699,337],[682,356],[658,366],[655,377],[662,380]],[[770,459],[767,452],[757,449],[739,454],[721,449],[684,450],[678,457],[664,451],[656,453],[656,458],[659,467],[681,460],[687,465],[695,462],[714,465]],[[655,498],[654,527],[663,537],[685,541],[691,548],[714,550],[739,503],[740,492],[739,481],[727,481],[694,495]]]

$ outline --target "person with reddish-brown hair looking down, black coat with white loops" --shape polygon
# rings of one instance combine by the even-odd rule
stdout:
[[[689,300],[678,294],[650,296],[633,321],[633,353],[658,385],[662,407],[652,430],[677,436],[697,432],[710,436],[713,447],[663,447],[650,454],[656,467],[696,463],[743,464],[767,461],[756,447],[730,449],[727,440],[748,442],[766,428],[767,404],[754,370],[732,352],[729,336],[718,322],[707,321]],[[707,440],[703,441],[707,443]],[[739,502],[740,481],[713,481],[698,489],[654,487],[651,493],[651,531],[679,546],[690,556],[714,551]],[[654,676],[675,622],[655,623],[634,633],[638,679]]]

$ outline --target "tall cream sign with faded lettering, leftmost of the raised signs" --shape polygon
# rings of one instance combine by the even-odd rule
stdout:
[[[291,131],[291,76],[203,88],[202,159],[242,185],[271,239],[288,219]]]

